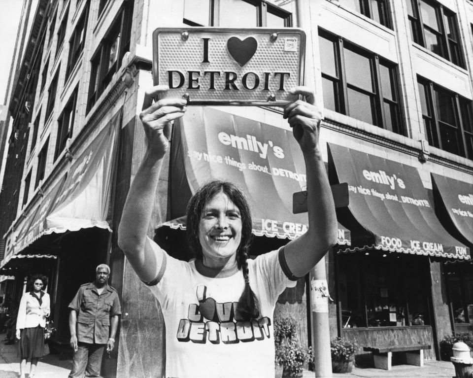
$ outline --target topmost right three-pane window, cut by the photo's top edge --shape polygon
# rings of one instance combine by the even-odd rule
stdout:
[[[413,41],[465,68],[456,14],[436,1],[406,0],[406,4]]]

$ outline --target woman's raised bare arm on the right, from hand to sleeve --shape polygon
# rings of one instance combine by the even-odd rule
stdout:
[[[294,88],[293,93],[305,97],[284,108],[283,117],[304,155],[307,176],[308,230],[284,248],[289,270],[296,277],[308,273],[337,242],[337,216],[327,172],[319,148],[322,115],[315,106],[314,93],[307,87]]]

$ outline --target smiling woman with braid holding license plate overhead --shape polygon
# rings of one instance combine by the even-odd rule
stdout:
[[[196,259],[185,262],[170,257],[147,237],[161,165],[169,150],[170,123],[186,111],[183,99],[152,101],[167,89],[155,86],[145,96],[140,119],[147,150],[118,230],[120,247],[163,311],[166,377],[274,377],[277,298],[337,241],[314,94],[306,87],[294,88],[291,92],[305,100],[289,103],[283,113],[304,155],[308,230],[278,250],[249,259],[252,221],[246,197],[237,183],[211,181],[187,207],[187,239]]]

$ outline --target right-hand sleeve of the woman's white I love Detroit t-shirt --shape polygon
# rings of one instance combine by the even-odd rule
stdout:
[[[255,273],[257,277],[264,277],[266,280],[268,298],[272,303],[277,301],[286,287],[295,287],[297,284],[297,281],[289,279],[282,270],[278,253],[279,250],[274,250],[260,255],[254,260]]]

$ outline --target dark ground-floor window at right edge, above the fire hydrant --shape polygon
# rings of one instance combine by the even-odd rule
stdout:
[[[454,323],[468,323],[473,303],[473,272],[470,264],[444,264],[448,302]]]

